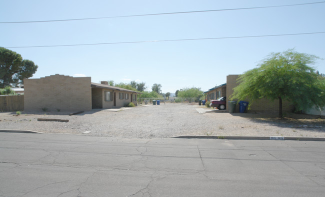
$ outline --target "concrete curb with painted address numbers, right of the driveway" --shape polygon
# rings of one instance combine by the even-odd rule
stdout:
[[[205,135],[182,135],[174,136],[171,138],[185,138],[185,139],[257,139],[257,140],[296,140],[296,141],[325,141],[325,137],[283,137],[283,136],[234,136],[234,135],[218,135],[218,136],[205,136]]]

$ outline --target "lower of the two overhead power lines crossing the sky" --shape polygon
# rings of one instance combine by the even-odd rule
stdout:
[[[248,36],[233,36],[233,37],[206,37],[206,38],[164,39],[164,40],[148,40],[148,41],[102,42],[102,43],[87,43],[87,44],[85,43],[85,44],[61,44],[61,45],[37,45],[37,46],[7,46],[5,48],[36,48],[36,47],[85,46],[85,45],[128,44],[128,43],[167,42],[167,41],[191,41],[191,40],[207,40],[207,39],[231,39],[231,38],[248,38],[248,37],[306,35],[306,34],[319,34],[319,33],[325,33],[325,31],[306,32],[306,33],[270,34],[270,35],[248,35]]]

